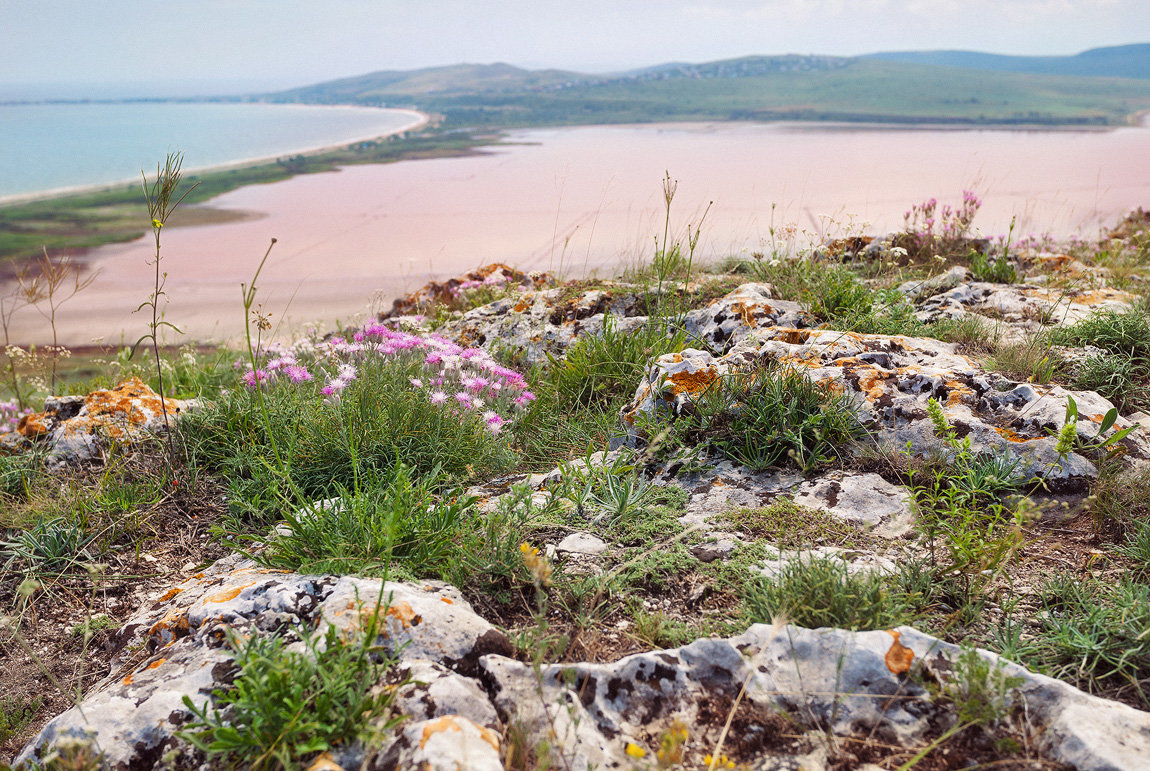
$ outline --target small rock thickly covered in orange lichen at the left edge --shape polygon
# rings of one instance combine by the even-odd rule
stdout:
[[[54,396],[41,412],[24,415],[15,434],[47,449],[46,463],[61,465],[100,458],[114,444],[156,436],[168,419],[197,406],[194,399],[160,399],[139,377],[87,396]],[[0,440],[6,446],[15,440]]]

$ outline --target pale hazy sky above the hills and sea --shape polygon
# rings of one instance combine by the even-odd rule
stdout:
[[[0,98],[245,93],[460,62],[1150,43],[1150,0],[0,0]]]

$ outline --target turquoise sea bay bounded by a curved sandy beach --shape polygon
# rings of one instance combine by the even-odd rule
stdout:
[[[138,180],[171,151],[192,169],[378,136],[412,121],[390,109],[301,105],[0,105],[0,198]]]

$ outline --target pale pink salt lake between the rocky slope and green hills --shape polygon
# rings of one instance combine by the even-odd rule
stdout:
[[[912,204],[986,201],[982,235],[1081,232],[1150,201],[1150,131],[941,130],[784,124],[591,127],[520,131],[474,158],[359,166],[256,185],[216,208],[262,216],[164,232],[168,319],[198,338],[241,333],[239,284],[271,237],[264,310],[330,326],[390,305],[431,277],[490,261],[580,276],[650,259],[665,171],[678,181],[673,232],[703,222],[698,255],[768,250],[772,223],[812,237],[882,234]],[[100,276],[62,308],[67,343],[135,339],[151,291],[146,242],[91,254]],[[44,342],[25,315],[15,338]]]

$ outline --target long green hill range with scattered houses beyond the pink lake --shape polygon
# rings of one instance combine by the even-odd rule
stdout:
[[[1088,54],[1080,56],[1096,58]],[[736,120],[1116,125],[1150,110],[1150,78],[788,54],[611,75],[455,64],[370,72],[261,99],[414,107],[440,116],[444,128],[468,129]]]

